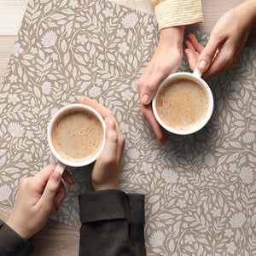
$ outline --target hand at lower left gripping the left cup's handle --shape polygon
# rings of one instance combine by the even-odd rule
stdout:
[[[46,224],[50,213],[55,215],[66,191],[61,182],[61,172],[49,164],[34,177],[26,177],[20,189],[7,224],[20,236],[29,239]],[[55,172],[54,172],[55,171]],[[73,185],[73,177],[65,170],[63,179]]]

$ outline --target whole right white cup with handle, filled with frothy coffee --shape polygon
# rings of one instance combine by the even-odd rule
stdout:
[[[152,102],[154,116],[172,133],[188,135],[207,124],[212,116],[213,96],[202,73],[173,73],[164,79]]]

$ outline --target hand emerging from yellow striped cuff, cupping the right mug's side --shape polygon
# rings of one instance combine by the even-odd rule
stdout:
[[[151,102],[160,82],[180,67],[183,60],[183,34],[184,26],[166,27],[160,31],[157,49],[137,81],[143,118],[154,131],[161,146],[166,143],[165,130],[155,119]]]

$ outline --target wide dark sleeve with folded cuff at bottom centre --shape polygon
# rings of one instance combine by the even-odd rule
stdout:
[[[144,195],[116,189],[79,195],[80,256],[144,256]]]

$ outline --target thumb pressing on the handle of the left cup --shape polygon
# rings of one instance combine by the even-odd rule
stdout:
[[[60,183],[61,183],[61,172],[59,171],[53,172],[49,177],[49,180],[46,183],[46,186],[44,188],[44,193],[39,200],[41,204],[49,207],[49,210],[51,210],[54,204],[55,195],[58,192]]]

